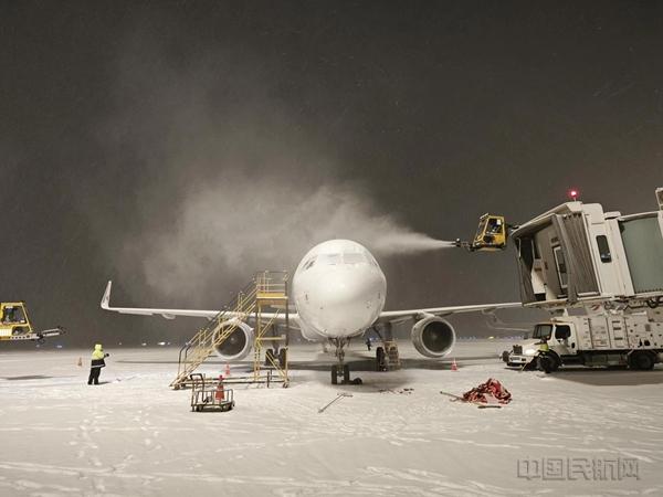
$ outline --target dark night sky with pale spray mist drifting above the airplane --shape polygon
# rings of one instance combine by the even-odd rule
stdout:
[[[581,3],[581,4],[577,4]],[[660,2],[0,3],[0,298],[67,343],[198,322],[257,269],[375,226],[653,210]],[[385,224],[386,223],[386,224]],[[389,308],[517,299],[514,256],[376,254]],[[474,334],[459,329],[461,334]]]

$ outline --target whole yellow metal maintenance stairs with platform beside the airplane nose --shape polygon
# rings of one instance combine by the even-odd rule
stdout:
[[[272,371],[266,377],[267,384],[281,381],[287,387],[290,381],[287,372],[287,330],[288,320],[288,298],[287,298],[288,275],[285,272],[261,272],[255,275],[253,281],[246,285],[236,297],[223,307],[217,316],[190,339],[180,349],[178,360],[177,377],[170,383],[170,388],[179,390],[189,385],[190,376],[200,364],[212,356],[233,332],[240,328],[242,322],[252,321],[254,324],[253,341],[253,377],[246,382],[260,382],[263,380],[261,374],[261,352],[266,343],[283,342],[282,357],[274,357],[271,349],[266,353],[266,366],[271,366],[276,372],[277,378],[272,379]],[[272,308],[275,311],[264,313],[265,308]],[[281,336],[269,336],[267,331],[274,330],[276,322],[284,321],[286,332]],[[235,379],[233,381],[239,382]]]

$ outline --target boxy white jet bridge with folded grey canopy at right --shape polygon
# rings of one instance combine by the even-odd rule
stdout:
[[[663,304],[663,189],[659,211],[622,215],[566,202],[512,233],[525,306]]]

